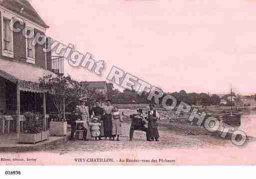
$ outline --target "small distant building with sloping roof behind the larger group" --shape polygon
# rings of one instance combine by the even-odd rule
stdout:
[[[82,82],[87,90],[95,90],[97,94],[107,97],[107,82],[106,81],[85,81]]]

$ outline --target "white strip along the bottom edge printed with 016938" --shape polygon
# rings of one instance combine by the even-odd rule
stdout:
[[[0,178],[102,179],[112,174],[111,179],[247,179],[255,175],[255,169],[255,166],[2,166]],[[5,171],[20,171],[21,175],[5,176]]]

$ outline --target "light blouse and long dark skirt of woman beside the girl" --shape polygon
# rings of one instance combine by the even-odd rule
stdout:
[[[103,126],[104,126],[104,136],[112,137],[112,111],[113,106],[104,106],[104,117],[103,117]]]

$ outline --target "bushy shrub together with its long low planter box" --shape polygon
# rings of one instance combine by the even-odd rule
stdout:
[[[42,115],[27,113],[24,116],[24,131],[18,135],[18,143],[35,144],[49,140],[49,131],[43,130]]]

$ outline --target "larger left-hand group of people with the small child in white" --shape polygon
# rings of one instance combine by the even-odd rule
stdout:
[[[122,115],[119,113],[118,107],[113,107],[111,101],[106,101],[106,106],[100,107],[100,102],[96,101],[95,107],[92,108],[91,114],[88,106],[86,106],[86,98],[80,99],[80,105],[76,106],[74,112],[71,115],[71,135],[70,139],[74,137],[74,133],[77,130],[76,121],[84,121],[80,130],[83,131],[83,138],[85,141],[94,138],[95,140],[115,140],[119,141],[121,134],[121,122]]]

